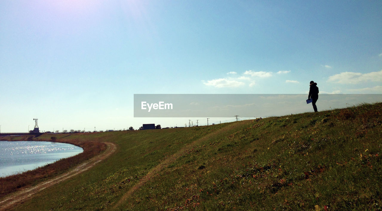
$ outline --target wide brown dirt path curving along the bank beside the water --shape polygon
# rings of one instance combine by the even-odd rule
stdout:
[[[82,164],[79,164],[73,170],[70,170],[69,172],[66,172],[65,174],[59,175],[48,181],[41,182],[33,187],[26,188],[24,190],[21,190],[15,193],[11,193],[11,196],[8,196],[3,201],[0,201],[0,210],[10,209],[17,204],[22,203],[23,201],[31,199],[36,193],[40,192],[41,190],[44,190],[45,188],[51,187],[59,182],[69,179],[70,177],[73,177],[81,172],[84,172],[87,169],[90,169],[98,162],[102,161],[103,159],[113,154],[114,151],[117,149],[117,146],[113,143],[110,143],[110,142],[104,142],[104,143],[107,145],[107,149],[105,150],[104,153],[99,154],[95,157],[92,157],[88,161],[85,161]]]

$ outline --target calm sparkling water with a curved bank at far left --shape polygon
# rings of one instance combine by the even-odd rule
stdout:
[[[82,153],[81,147],[48,141],[0,141],[0,177],[18,174]]]

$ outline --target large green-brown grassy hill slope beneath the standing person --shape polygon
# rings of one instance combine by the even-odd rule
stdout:
[[[382,209],[381,110],[382,103],[364,104],[204,127],[57,136],[118,149],[16,208]]]

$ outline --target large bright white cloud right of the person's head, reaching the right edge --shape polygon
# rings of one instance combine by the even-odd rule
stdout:
[[[367,81],[382,81],[382,70],[379,72],[371,73],[343,72],[330,76],[328,81],[342,84],[356,84]]]

